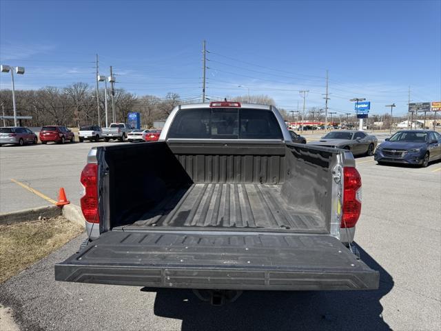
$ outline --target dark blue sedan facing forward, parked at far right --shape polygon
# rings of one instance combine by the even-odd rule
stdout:
[[[428,130],[403,130],[381,143],[373,156],[381,163],[407,163],[427,167],[441,159],[441,134]]]

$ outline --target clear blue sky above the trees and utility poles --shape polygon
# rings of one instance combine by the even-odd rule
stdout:
[[[4,1],[0,61],[25,66],[17,88],[95,81],[113,66],[138,95],[201,96],[207,40],[207,95],[267,94],[288,110],[324,107],[329,70],[332,111],[407,112],[441,100],[441,1]],[[0,88],[10,77],[0,75]]]

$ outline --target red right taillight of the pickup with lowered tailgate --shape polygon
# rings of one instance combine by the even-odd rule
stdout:
[[[353,228],[361,212],[361,177],[356,168],[343,168],[342,228]]]

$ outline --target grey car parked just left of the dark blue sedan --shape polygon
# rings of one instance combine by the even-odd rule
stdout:
[[[345,130],[329,132],[319,141],[313,141],[309,144],[342,148],[343,150],[350,150],[353,155],[365,154],[371,156],[377,143],[378,139],[375,136],[370,136],[363,131]]]

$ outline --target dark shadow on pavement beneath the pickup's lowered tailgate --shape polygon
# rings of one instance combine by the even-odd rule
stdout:
[[[364,250],[362,261],[380,272],[373,291],[243,292],[234,303],[212,306],[191,290],[156,291],[154,314],[181,319],[181,330],[390,330],[380,299],[393,278]],[[148,289],[143,289],[147,290]]]

